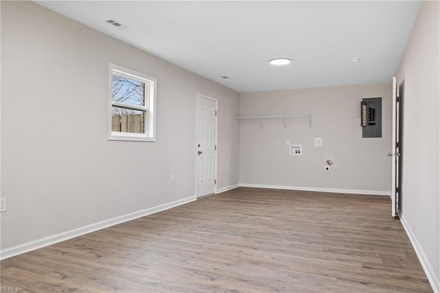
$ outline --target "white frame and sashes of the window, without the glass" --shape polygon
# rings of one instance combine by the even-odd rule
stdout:
[[[127,78],[132,78],[138,80],[142,83],[146,83],[148,94],[146,96],[146,107],[139,107],[135,105],[125,105],[123,103],[113,102],[113,74],[118,74],[120,76],[125,76]],[[119,65],[109,64],[109,97],[108,99],[108,140],[126,140],[126,141],[136,141],[136,142],[155,142],[156,141],[156,87],[157,78],[153,76],[148,76],[141,72],[136,72],[132,69],[128,69]],[[125,106],[126,109],[133,109],[136,111],[145,111],[145,133],[130,133],[130,132],[118,132],[112,131],[112,107]]]

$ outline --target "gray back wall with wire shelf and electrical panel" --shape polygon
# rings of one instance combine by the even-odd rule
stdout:
[[[390,83],[241,94],[240,115],[311,113],[307,123],[241,122],[240,182],[358,191],[391,190]],[[360,102],[382,97],[382,138],[362,138]],[[322,147],[314,146],[322,138]],[[301,144],[303,155],[289,155],[286,140]],[[327,159],[333,160],[325,172]]]

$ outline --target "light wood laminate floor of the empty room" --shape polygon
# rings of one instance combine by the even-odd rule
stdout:
[[[432,292],[389,197],[236,188],[1,261],[23,292]]]

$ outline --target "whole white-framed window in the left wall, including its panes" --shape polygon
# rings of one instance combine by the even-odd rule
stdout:
[[[157,79],[110,64],[109,140],[156,140]]]

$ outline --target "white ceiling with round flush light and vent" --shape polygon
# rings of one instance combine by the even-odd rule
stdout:
[[[420,1],[37,3],[240,92],[391,82],[420,6]],[[129,29],[115,28],[109,19]],[[279,56],[292,63],[270,65]],[[362,61],[351,63],[353,57]]]

